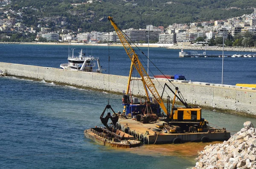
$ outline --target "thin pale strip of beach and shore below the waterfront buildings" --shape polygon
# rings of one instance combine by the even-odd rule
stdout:
[[[43,42],[0,42],[0,44],[22,44],[22,45],[71,45],[71,46],[108,46],[107,43],[43,43]],[[211,51],[222,51],[223,47],[222,46],[198,46],[198,45],[177,45],[177,44],[160,44],[160,43],[137,43],[136,44],[138,47],[151,47],[151,48],[157,48],[157,47],[162,47],[166,49],[185,49],[185,50],[211,50]],[[122,44],[110,44],[109,46],[121,46]],[[132,45],[131,45],[132,46]],[[224,46],[224,51],[237,51],[237,52],[256,52],[255,47],[229,47],[229,46]]]

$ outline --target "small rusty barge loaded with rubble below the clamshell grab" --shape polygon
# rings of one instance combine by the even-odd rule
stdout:
[[[117,148],[132,148],[140,146],[139,140],[136,140],[132,135],[128,135],[118,129],[116,129],[116,132],[112,132],[102,127],[90,128],[84,130],[84,136],[104,146]]]

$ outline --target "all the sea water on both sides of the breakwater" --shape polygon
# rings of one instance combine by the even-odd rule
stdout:
[[[81,48],[86,52],[86,46],[72,47],[77,52]],[[147,48],[141,49],[147,51]],[[92,52],[93,56],[100,57],[107,72],[108,50],[111,74],[127,76],[131,62],[124,49],[87,47],[88,55]],[[178,52],[150,48],[149,57],[165,74],[181,73],[193,81],[221,83],[220,58],[179,58]],[[237,52],[229,54],[233,53]],[[67,55],[68,46],[0,44],[0,62],[58,68],[60,63],[67,62]],[[256,58],[224,59],[224,82],[255,83],[256,68],[253,64]],[[205,143],[144,145],[127,150],[100,146],[84,138],[84,129],[101,125],[99,116],[108,103],[108,97],[115,111],[122,110],[119,95],[44,81],[0,77],[0,168],[186,169],[195,166],[196,155],[189,152],[202,150]],[[226,127],[232,134],[239,131],[247,120],[256,125],[255,118],[217,111],[204,110],[203,117],[212,126]]]

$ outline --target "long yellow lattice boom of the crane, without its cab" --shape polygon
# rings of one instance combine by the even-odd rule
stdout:
[[[148,88],[148,91],[153,95],[155,100],[157,100],[157,103],[162,108],[163,112],[167,115],[167,109],[166,106],[163,103],[162,98],[160,97],[159,93],[157,92],[157,89],[154,86],[154,83],[148,76],[148,73],[145,71],[142,63],[139,60],[138,55],[134,51],[134,49],[131,47],[131,45],[128,43],[128,41],[125,39],[124,33],[121,29],[116,25],[116,23],[113,21],[112,17],[108,17],[108,20],[110,20],[111,25],[116,31],[116,34],[118,35],[123,47],[125,48],[125,51],[128,55],[128,57],[131,59],[133,66],[137,69],[138,73],[140,74],[140,77],[142,78],[143,84]],[[131,78],[131,77],[130,77]],[[130,81],[130,79],[129,79]]]

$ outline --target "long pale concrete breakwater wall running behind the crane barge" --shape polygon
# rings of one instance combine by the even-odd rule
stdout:
[[[30,78],[34,80],[46,80],[71,86],[117,92],[122,94],[126,90],[128,77],[112,74],[99,74],[91,72],[70,71],[57,68],[21,65],[0,62],[0,70],[9,76]],[[136,81],[136,82],[134,82]],[[152,79],[157,91],[162,92],[162,86],[167,83],[164,79]],[[159,82],[159,83],[158,83]],[[143,92],[143,84],[140,80],[133,80],[134,95]],[[109,84],[109,86],[108,86]],[[186,102],[200,106],[208,106],[212,109],[225,109],[240,112],[247,115],[256,115],[256,90],[235,88],[229,85],[216,85],[174,80],[173,84],[179,87]],[[169,85],[173,90],[175,87]],[[172,96],[171,92],[169,95]],[[163,93],[163,98],[167,94]]]

